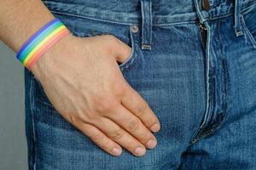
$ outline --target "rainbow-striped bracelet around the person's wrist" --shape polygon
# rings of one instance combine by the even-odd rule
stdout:
[[[58,19],[49,21],[32,35],[20,48],[17,59],[22,65],[31,70],[32,65],[50,48],[55,42],[69,33],[66,26]]]

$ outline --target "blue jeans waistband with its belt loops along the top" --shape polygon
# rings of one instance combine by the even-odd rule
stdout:
[[[152,27],[234,15],[236,36],[242,35],[240,15],[256,0],[44,0],[52,13],[140,26],[142,49],[151,49]]]

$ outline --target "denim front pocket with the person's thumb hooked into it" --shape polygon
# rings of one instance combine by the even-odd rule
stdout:
[[[117,62],[121,71],[127,70],[136,60],[138,50],[137,36],[139,33],[131,31],[133,25],[123,25],[91,18],[80,18],[52,10],[50,12],[61,20],[75,37],[94,37],[109,34],[128,45],[131,48],[131,54],[122,63]]]

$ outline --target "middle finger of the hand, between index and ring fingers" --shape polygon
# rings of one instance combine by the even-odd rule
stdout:
[[[145,127],[143,122],[123,105],[119,105],[118,109],[114,113],[109,113],[107,117],[119,124],[120,127],[123,127],[128,133],[131,133],[148,149],[153,149],[157,144],[154,135]]]

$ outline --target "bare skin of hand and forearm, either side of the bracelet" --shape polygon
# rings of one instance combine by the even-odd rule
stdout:
[[[17,52],[53,18],[39,0],[0,0],[0,38]],[[31,70],[61,116],[113,156],[122,148],[144,156],[156,146],[154,133],[160,130],[148,103],[119,70],[117,61],[129,54],[131,47],[112,35],[68,34]]]

